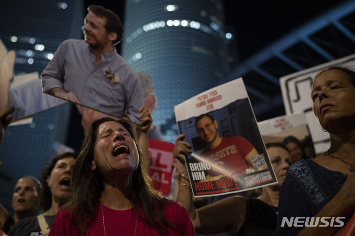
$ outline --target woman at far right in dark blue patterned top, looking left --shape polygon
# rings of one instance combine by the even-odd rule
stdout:
[[[341,225],[337,221],[345,223],[344,218],[334,221],[331,217],[348,217],[355,211],[355,72],[344,67],[322,71],[313,82],[311,96],[313,112],[330,135],[330,148],[287,171],[276,236],[330,236],[339,229],[334,225]],[[301,220],[296,224],[301,227],[294,227],[291,217],[308,217],[308,222]],[[327,227],[302,227],[326,225],[324,221]]]

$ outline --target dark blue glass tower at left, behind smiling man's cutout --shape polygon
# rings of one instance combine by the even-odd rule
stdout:
[[[40,74],[62,41],[81,37],[83,18],[82,0],[1,1],[0,38],[16,52],[15,75]],[[36,114],[30,124],[7,128],[0,144],[0,202],[10,215],[15,182],[40,175],[54,142],[65,141],[70,110],[70,104],[55,107]]]

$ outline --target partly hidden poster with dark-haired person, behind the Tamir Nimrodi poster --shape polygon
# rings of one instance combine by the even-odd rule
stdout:
[[[283,143],[295,163],[315,157],[315,149],[304,113],[295,113],[258,122],[265,143]]]

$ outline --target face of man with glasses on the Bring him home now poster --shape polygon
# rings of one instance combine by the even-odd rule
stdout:
[[[202,140],[212,143],[217,137],[217,122],[212,121],[209,117],[204,116],[196,123],[196,131]]]

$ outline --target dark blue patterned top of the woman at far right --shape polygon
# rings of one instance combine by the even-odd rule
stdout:
[[[297,235],[302,227],[281,227],[283,217],[316,215],[343,186],[348,175],[326,169],[312,160],[301,160],[287,170],[281,187],[274,236]]]

